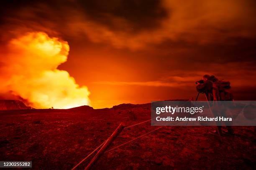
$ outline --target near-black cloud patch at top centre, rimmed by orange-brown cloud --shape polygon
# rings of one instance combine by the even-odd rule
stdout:
[[[78,0],[82,11],[94,21],[114,30],[124,29],[112,17],[128,21],[131,31],[156,28],[168,16],[160,0]],[[169,11],[170,12],[170,11]],[[126,30],[126,29],[125,29]]]

